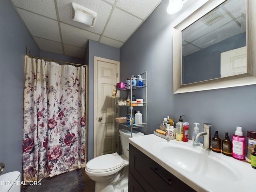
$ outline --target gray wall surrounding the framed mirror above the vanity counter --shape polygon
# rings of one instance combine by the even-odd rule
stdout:
[[[148,72],[148,130],[158,128],[166,115],[175,123],[179,115],[189,122],[192,139],[194,122],[202,131],[202,123],[212,124],[224,139],[225,132],[234,134],[236,126],[256,130],[256,85],[192,93],[173,94],[172,28],[199,7],[197,0],[189,0],[174,15],[166,13],[168,0],[163,0],[142,26],[120,49],[120,81],[126,77]],[[201,1],[202,2],[202,1]]]

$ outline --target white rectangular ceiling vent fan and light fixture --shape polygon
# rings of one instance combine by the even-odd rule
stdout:
[[[97,13],[76,3],[72,2],[71,4],[72,20],[93,27],[97,17]]]

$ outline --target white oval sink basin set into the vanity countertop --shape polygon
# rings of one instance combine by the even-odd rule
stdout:
[[[214,180],[237,181],[241,179],[234,166],[220,162],[214,156],[211,157],[210,153],[213,152],[203,149],[202,146],[184,148],[182,143],[179,145],[164,142],[154,144],[153,149],[165,154],[164,160],[168,164],[174,164],[196,175]],[[225,174],[220,174],[220,170]]]

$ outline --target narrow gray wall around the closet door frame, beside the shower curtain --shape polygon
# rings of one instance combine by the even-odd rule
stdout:
[[[119,61],[119,48],[107,46],[92,40],[89,40],[88,48],[85,54],[85,63],[88,62],[88,160],[93,158],[93,121],[94,121],[94,56]],[[88,61],[87,61],[88,59]]]

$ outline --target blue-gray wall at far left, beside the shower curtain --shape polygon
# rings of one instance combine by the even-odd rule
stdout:
[[[9,0],[0,3],[0,162],[22,173],[24,55],[40,52]]]

